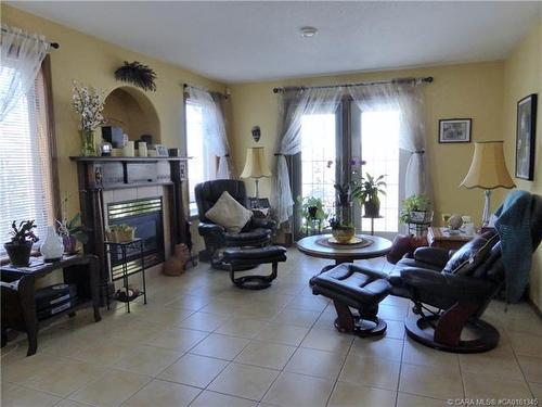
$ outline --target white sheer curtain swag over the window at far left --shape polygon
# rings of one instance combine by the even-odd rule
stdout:
[[[0,122],[17,105],[34,81],[47,55],[43,36],[2,24],[0,34]]]

